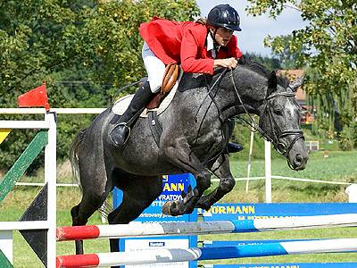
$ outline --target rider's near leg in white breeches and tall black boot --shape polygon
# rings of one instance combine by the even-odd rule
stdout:
[[[112,143],[116,147],[123,147],[125,145],[129,138],[129,130],[132,123],[144,109],[145,105],[151,101],[154,93],[159,91],[162,84],[165,64],[154,55],[146,43],[143,46],[142,56],[148,80],[137,90],[128,109],[120,116],[117,125],[110,133]],[[131,121],[131,119],[133,120]]]

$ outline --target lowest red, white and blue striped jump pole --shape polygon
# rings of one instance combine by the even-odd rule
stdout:
[[[355,250],[357,250],[357,239],[291,241],[230,247],[161,248],[120,253],[62,255],[57,257],[57,268],[176,263],[268,255],[353,252]]]

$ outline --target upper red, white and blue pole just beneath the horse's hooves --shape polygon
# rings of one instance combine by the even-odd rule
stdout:
[[[357,214],[333,214],[246,221],[162,222],[113,225],[67,226],[57,228],[57,241],[113,239],[212,233],[238,233],[266,230],[296,230],[357,226]]]

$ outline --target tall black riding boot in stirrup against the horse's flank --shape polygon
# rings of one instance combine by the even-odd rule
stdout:
[[[151,101],[153,95],[149,82],[145,81],[133,96],[127,111],[120,116],[117,125],[109,134],[112,143],[116,147],[123,147],[125,145],[129,138],[131,125],[137,120],[140,113],[143,112],[145,105]]]

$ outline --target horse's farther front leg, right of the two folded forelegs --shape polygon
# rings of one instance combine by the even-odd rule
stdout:
[[[230,172],[228,154],[220,155],[216,162],[213,163],[211,171],[220,178],[220,184],[210,194],[202,196],[198,200],[195,207],[203,208],[204,210],[209,210],[214,203],[230,192],[236,184]]]

